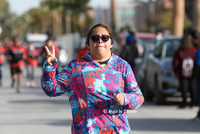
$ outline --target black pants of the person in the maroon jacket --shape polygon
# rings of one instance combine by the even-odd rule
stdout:
[[[179,79],[180,83],[180,90],[182,92],[182,104],[187,105],[187,93],[190,93],[190,98],[191,102],[190,105],[195,105],[196,104],[196,94],[195,94],[195,87],[194,87],[194,82],[192,81],[191,78],[182,78]]]

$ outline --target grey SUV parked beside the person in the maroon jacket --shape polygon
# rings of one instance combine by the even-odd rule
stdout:
[[[164,104],[168,96],[180,95],[179,82],[175,78],[172,60],[180,45],[181,37],[165,36],[158,42],[154,52],[146,59],[145,87],[142,92],[146,99],[155,98],[157,104]]]

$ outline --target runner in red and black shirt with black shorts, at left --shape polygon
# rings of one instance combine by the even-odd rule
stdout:
[[[16,91],[19,93],[21,80],[22,80],[22,69],[24,68],[23,59],[26,59],[26,48],[20,44],[19,37],[15,36],[13,39],[13,45],[10,46],[8,52],[8,60],[10,61],[12,84],[14,87],[15,80],[18,78]]]

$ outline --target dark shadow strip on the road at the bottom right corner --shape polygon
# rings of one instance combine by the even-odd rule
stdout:
[[[200,123],[187,119],[129,119],[135,131],[200,132]]]

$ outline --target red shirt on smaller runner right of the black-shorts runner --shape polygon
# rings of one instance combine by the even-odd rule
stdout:
[[[39,56],[39,51],[35,48],[34,50],[27,49],[27,66],[35,67],[38,65],[37,56]]]

